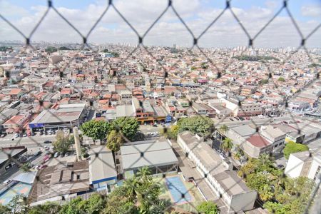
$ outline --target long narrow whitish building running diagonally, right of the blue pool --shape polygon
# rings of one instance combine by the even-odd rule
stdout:
[[[203,137],[194,136],[189,131],[178,134],[178,145],[195,163],[198,171],[204,175],[213,192],[221,196],[228,205],[229,213],[250,210],[254,207],[257,193],[245,185],[233,171],[233,164],[225,160],[203,141]]]

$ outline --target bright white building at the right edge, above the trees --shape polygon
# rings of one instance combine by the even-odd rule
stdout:
[[[317,181],[317,175],[321,171],[321,156],[313,155],[310,151],[302,151],[290,154],[285,168],[285,174],[291,178],[300,176]]]

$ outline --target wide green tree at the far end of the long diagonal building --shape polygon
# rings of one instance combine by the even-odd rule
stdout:
[[[213,121],[203,116],[181,118],[178,121],[178,133],[182,131],[200,133],[206,138],[213,132]]]

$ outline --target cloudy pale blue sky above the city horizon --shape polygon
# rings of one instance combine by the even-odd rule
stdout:
[[[157,17],[166,9],[167,0],[113,0],[116,9],[128,20],[140,36],[146,34],[148,28]],[[275,48],[287,46],[300,46],[301,36],[292,23],[289,14],[284,9],[260,33],[260,29],[282,7],[280,0],[233,0],[231,9],[241,24],[254,38],[253,46],[262,48]],[[46,12],[47,1],[44,0],[0,0],[0,14],[14,24],[27,37],[34,26]],[[54,0],[54,7],[70,23],[78,29],[81,35],[86,36],[103,11],[108,1],[102,0]],[[300,28],[302,36],[307,37],[321,24],[320,0],[289,0],[288,9]],[[230,48],[235,46],[248,46],[248,36],[241,28],[233,14],[227,10],[207,29],[210,23],[223,11],[225,1],[211,0],[173,0],[175,10],[185,21],[190,31],[180,22],[173,9],[163,14],[161,19],[148,31],[143,38],[146,46],[193,46],[193,36],[198,38],[201,47]],[[203,31],[205,31],[204,34]],[[257,35],[258,36],[255,36]],[[33,41],[73,42],[82,43],[83,39],[61,16],[53,9],[31,36]],[[306,46],[321,47],[321,27],[306,41]],[[24,38],[0,17],[0,41],[21,40]],[[110,7],[101,21],[89,34],[88,43],[95,44],[138,44],[138,35]]]

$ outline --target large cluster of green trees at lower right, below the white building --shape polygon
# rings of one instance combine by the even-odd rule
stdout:
[[[275,168],[269,155],[251,158],[240,168],[238,175],[244,178],[249,188],[258,191],[263,207],[270,213],[303,213],[314,186],[309,178],[287,177],[282,170]]]

